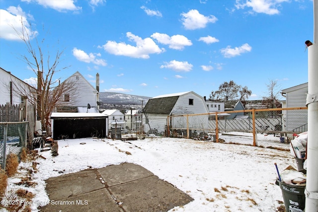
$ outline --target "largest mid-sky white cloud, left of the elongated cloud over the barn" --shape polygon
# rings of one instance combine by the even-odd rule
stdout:
[[[126,33],[129,40],[136,43],[136,46],[132,46],[126,43],[117,43],[115,41],[107,41],[103,48],[106,52],[113,55],[121,55],[132,58],[150,58],[150,54],[160,54],[165,50],[160,49],[159,46],[151,38],[142,39],[131,32]]]

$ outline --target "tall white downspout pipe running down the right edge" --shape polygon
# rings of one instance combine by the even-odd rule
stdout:
[[[314,44],[308,47],[308,143],[306,212],[318,212],[318,0],[314,2]]]

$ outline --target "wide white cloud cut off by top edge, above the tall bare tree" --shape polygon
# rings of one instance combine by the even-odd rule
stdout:
[[[71,11],[81,10],[81,7],[76,6],[74,4],[75,0],[22,0],[22,1],[27,1],[28,3],[35,2],[44,7],[55,9],[59,12],[64,12],[67,10],[71,10]]]

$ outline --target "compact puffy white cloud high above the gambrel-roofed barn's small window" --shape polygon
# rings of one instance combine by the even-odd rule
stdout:
[[[182,24],[186,29],[200,29],[205,28],[207,23],[215,23],[218,18],[214,15],[204,16],[196,9],[191,9],[187,13],[181,13]]]

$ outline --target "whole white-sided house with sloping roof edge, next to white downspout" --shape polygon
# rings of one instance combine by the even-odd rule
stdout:
[[[286,97],[286,108],[306,107],[308,82],[282,90]],[[286,131],[305,132],[308,125],[307,110],[286,111]]]

